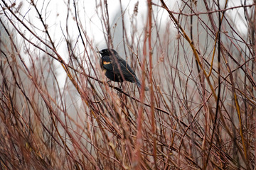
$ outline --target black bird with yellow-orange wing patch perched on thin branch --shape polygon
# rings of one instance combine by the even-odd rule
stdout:
[[[104,49],[98,51],[102,57],[100,59],[100,67],[105,72],[105,76],[117,82],[129,81],[137,84],[139,89],[142,88],[142,83],[139,81],[137,76],[129,64],[125,60],[123,60],[117,52],[113,49]],[[122,74],[121,74],[121,72]],[[145,88],[148,90],[148,88]]]

